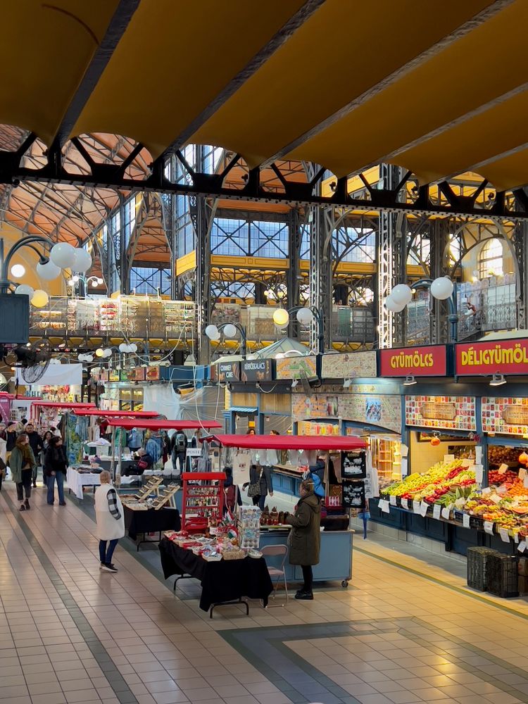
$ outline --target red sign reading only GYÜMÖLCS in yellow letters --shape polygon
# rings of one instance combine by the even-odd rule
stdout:
[[[379,371],[382,377],[445,377],[447,348],[428,345],[380,350]]]

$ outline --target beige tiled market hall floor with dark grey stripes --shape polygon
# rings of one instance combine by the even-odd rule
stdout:
[[[99,572],[92,499],[19,513],[0,494],[0,700],[176,704],[528,702],[528,602],[468,590],[460,565],[370,536],[351,589],[249,617],[198,608],[157,551]],[[451,569],[453,567],[453,569]]]

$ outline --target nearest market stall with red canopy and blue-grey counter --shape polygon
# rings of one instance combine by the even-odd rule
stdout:
[[[316,582],[340,580],[348,585],[352,574],[352,537],[348,529],[351,508],[365,508],[366,467],[363,450],[365,441],[354,436],[300,436],[300,435],[215,435],[215,440],[225,448],[247,449],[252,451],[253,459],[258,461],[258,453],[272,449],[303,453],[305,465],[298,465],[293,471],[296,484],[302,479],[303,472],[325,453],[325,497],[321,525],[320,562],[313,567],[313,579]],[[330,463],[332,459],[336,483],[332,483]],[[301,468],[302,467],[302,468]],[[235,484],[248,481],[248,477],[237,477],[233,463],[233,481]],[[297,487],[296,487],[297,488]],[[298,492],[298,488],[297,488]],[[298,495],[298,494],[297,494]],[[273,517],[263,515],[260,525],[260,547],[270,544],[287,545],[289,526],[282,524],[280,514]],[[301,570],[287,565],[287,579],[298,581]]]

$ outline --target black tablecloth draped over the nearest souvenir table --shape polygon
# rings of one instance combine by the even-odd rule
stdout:
[[[165,579],[173,574],[191,574],[200,580],[203,611],[208,611],[211,604],[236,601],[242,596],[262,599],[264,605],[268,603],[273,585],[264,558],[207,562],[167,538],[163,538],[159,547]]]

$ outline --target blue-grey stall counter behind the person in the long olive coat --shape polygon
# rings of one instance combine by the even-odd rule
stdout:
[[[321,551],[318,565],[313,567],[314,582],[340,581],[348,586],[352,579],[353,530],[324,530],[321,532]],[[260,532],[260,548],[267,545],[287,545],[289,529],[272,528]],[[284,563],[287,582],[302,582],[303,572],[299,565]]]

